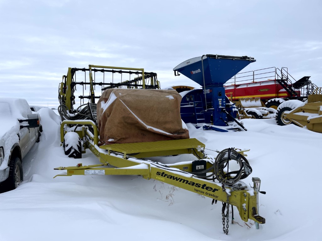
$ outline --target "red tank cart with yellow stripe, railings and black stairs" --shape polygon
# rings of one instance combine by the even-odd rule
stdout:
[[[225,94],[232,101],[241,98],[260,98],[266,107],[277,109],[285,100],[303,101],[312,94],[315,85],[304,76],[296,81],[286,67],[270,67],[236,74],[226,83]]]

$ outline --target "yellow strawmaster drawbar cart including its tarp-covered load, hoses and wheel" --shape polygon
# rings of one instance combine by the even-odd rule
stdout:
[[[70,99],[66,101],[68,104]],[[180,102],[181,95],[175,90],[105,90],[97,103],[95,118],[88,113],[83,114],[82,120],[65,119],[60,129],[66,155],[81,158],[90,150],[100,163],[57,167],[66,173],[56,176],[139,175],[155,179],[209,197],[212,204],[221,201],[225,234],[230,205],[237,207],[243,221],[254,220],[258,228],[265,223],[258,214],[260,179],[253,177],[253,186],[241,181],[252,172],[243,151],[227,148],[216,158],[208,155],[202,142],[189,138],[181,121]],[[181,154],[194,155],[195,160],[173,164],[149,160]],[[230,162],[237,163],[240,169],[230,170]]]

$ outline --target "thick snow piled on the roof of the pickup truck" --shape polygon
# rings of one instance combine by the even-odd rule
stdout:
[[[0,118],[14,117],[17,119],[27,119],[32,111],[28,102],[20,98],[0,98]]]

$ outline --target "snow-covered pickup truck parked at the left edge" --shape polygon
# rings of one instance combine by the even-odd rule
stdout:
[[[22,160],[36,142],[40,117],[24,99],[0,98],[0,191],[15,189],[23,181]]]

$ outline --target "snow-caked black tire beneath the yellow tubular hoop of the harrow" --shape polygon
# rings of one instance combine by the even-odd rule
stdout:
[[[81,138],[76,132],[67,132],[64,136],[63,147],[68,157],[81,158]]]

